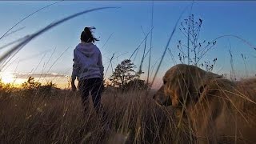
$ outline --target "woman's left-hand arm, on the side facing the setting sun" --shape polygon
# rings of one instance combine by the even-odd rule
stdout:
[[[73,58],[73,71],[72,71],[72,75],[71,75],[71,86],[72,86],[72,90],[76,90],[76,86],[74,85],[74,81],[75,79],[78,77],[78,72],[80,70],[80,66],[78,64],[78,56],[76,54],[76,50],[74,50],[74,58]]]

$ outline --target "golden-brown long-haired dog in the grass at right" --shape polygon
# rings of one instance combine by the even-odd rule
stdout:
[[[154,100],[187,119],[195,143],[256,143],[256,78],[231,82],[178,64],[166,71]]]

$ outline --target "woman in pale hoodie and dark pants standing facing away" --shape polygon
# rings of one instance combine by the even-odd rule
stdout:
[[[74,49],[71,86],[73,91],[77,89],[74,81],[78,78],[78,90],[82,94],[84,111],[86,112],[90,103],[90,92],[97,114],[102,114],[101,93],[104,67],[102,66],[101,51],[94,45],[94,42],[98,41],[98,38],[94,38],[91,32],[92,29],[95,28],[85,27],[81,34],[81,43]]]

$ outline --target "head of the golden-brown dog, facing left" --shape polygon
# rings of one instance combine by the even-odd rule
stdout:
[[[166,71],[162,78],[163,85],[154,94],[154,99],[164,106],[186,106],[188,102],[196,102],[207,82],[214,78],[222,76],[206,72],[197,66],[178,64]]]

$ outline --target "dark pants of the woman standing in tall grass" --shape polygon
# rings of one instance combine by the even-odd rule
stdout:
[[[102,78],[89,78],[89,79],[83,79],[78,82],[78,90],[82,96],[82,106],[85,113],[90,104],[89,102],[89,92],[90,92],[96,113],[102,114],[104,118],[106,117],[105,112],[103,112],[103,107],[101,103],[103,87],[104,86],[102,83]]]

